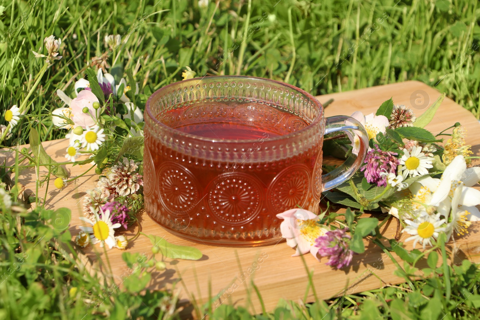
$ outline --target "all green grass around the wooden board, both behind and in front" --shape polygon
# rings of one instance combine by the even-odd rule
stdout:
[[[28,128],[36,122],[42,125],[43,140],[62,137],[66,132],[54,129],[50,116],[62,106],[56,90],[73,96],[73,83],[84,77],[93,57],[101,56],[113,66],[112,73],[132,69],[143,100],[181,80],[188,65],[199,76],[272,78],[313,95],[420,80],[480,118],[477,0],[225,0],[204,7],[197,0],[1,0],[0,5],[2,115],[32,88],[44,63],[32,50],[45,53],[46,36],[62,39],[63,56],[29,98],[29,116],[3,142],[6,146],[28,142]],[[108,51],[103,39],[111,34],[120,34],[122,44]],[[6,124],[3,117],[0,123]],[[12,217],[4,219],[16,223]],[[0,229],[3,248],[10,248],[15,235],[8,224]],[[40,225],[28,230],[32,246],[47,232]],[[106,284],[72,267],[66,272],[68,261],[59,267],[60,256],[51,243],[42,241],[36,248],[41,248],[41,268],[26,261],[18,279],[2,278],[0,319],[156,319],[161,312],[152,314],[144,306],[154,311],[165,307],[158,302],[161,293],[127,291],[94,308],[80,299],[96,296]],[[4,252],[2,261],[9,257]],[[0,267],[3,274],[8,263]],[[209,319],[478,319],[477,266],[464,262],[445,270],[411,282],[412,269],[404,266],[406,284],[308,305],[280,301],[275,310],[257,316],[228,303],[216,311],[209,305],[196,308]],[[69,291],[72,287],[80,288],[76,296]],[[22,303],[28,308],[20,308]]]

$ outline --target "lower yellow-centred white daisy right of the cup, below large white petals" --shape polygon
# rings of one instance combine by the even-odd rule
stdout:
[[[438,234],[445,231],[445,227],[442,226],[445,223],[445,219],[440,219],[440,214],[428,215],[423,213],[420,218],[415,221],[404,220],[407,226],[402,232],[407,232],[411,237],[408,237],[405,242],[413,240],[413,248],[417,245],[417,242],[423,245],[423,249],[427,245],[432,246],[432,238],[438,238]]]

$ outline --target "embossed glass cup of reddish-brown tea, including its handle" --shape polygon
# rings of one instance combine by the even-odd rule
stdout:
[[[262,78],[172,83],[150,96],[144,119],[146,212],[176,236],[210,245],[277,243],[276,214],[318,213],[322,192],[350,178],[368,149],[357,120],[325,119],[309,93]],[[358,152],[322,175],[324,134],[335,131]]]

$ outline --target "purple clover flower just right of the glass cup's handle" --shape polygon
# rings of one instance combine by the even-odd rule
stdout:
[[[365,178],[369,183],[376,183],[377,187],[386,187],[387,178],[382,177],[380,173],[396,173],[396,167],[400,164],[398,158],[395,157],[396,152],[382,151],[375,144],[375,148],[367,153],[364,163],[366,165],[360,168],[360,171],[365,170]]]

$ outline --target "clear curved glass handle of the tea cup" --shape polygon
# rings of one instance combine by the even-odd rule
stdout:
[[[359,121],[348,116],[328,117],[325,121],[325,134],[345,131],[353,141],[353,150],[341,166],[322,175],[322,192],[335,188],[353,176],[362,166],[368,151],[368,134]]]

